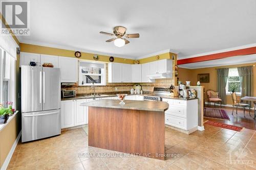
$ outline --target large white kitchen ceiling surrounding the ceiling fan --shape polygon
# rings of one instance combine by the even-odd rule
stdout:
[[[179,59],[255,43],[255,0],[33,0],[31,35],[21,42],[138,58],[166,49]],[[116,47],[105,40],[124,26],[140,38]]]

